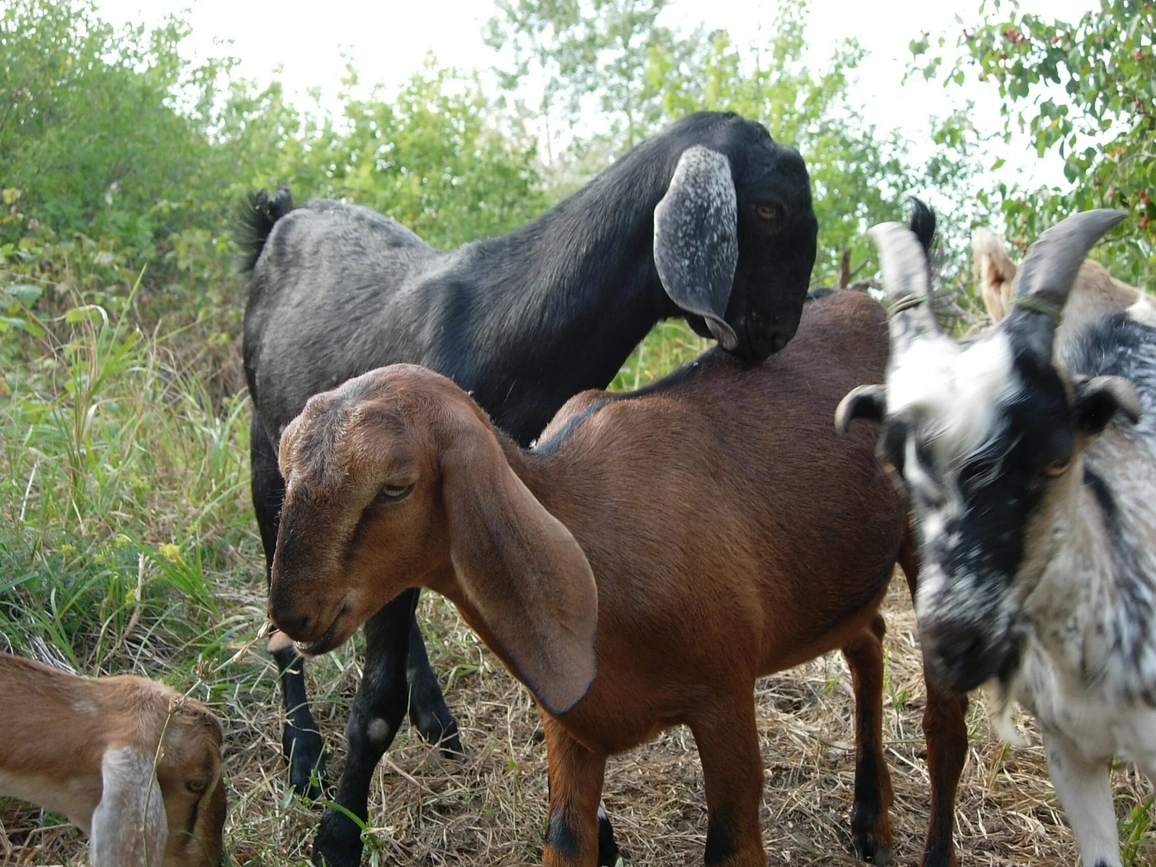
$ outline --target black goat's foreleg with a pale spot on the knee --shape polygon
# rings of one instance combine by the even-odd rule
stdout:
[[[346,725],[346,766],[334,794],[361,820],[369,816],[369,787],[373,771],[406,718],[408,690],[409,618],[417,591],[406,591],[365,621],[365,668]],[[361,829],[342,810],[329,807],[313,840],[313,864],[357,867]]]

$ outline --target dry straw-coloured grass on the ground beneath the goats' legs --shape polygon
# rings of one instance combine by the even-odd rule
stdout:
[[[899,864],[917,864],[927,821],[928,780],[920,731],[924,688],[914,617],[903,581],[887,602],[889,636],[884,740],[895,785],[891,812]],[[231,600],[254,623],[261,600]],[[546,750],[527,692],[443,600],[423,601],[423,622],[447,701],[469,751],[445,764],[407,727],[375,779],[365,864],[524,865],[541,855]],[[354,649],[310,668],[311,694],[340,766],[344,711],[357,684]],[[251,652],[224,667],[217,707],[228,707],[228,836],[239,865],[306,861],[317,813],[286,794],[281,714],[273,669]],[[232,689],[228,684],[232,684]],[[763,829],[772,864],[853,864],[849,812],[854,772],[850,675],[838,654],[759,682],[759,734],[766,785]],[[983,702],[969,716],[971,747],[958,798],[957,843],[971,865],[1077,861],[1070,831],[1036,747],[1005,749],[988,733]],[[1038,744],[1038,738],[1035,739]],[[1114,775],[1121,820],[1148,798],[1131,769]],[[701,864],[705,839],[702,769],[686,729],[612,761],[606,803],[628,864]],[[47,821],[46,825],[42,822]],[[82,840],[37,810],[0,809],[0,864],[81,864]],[[1127,829],[1126,829],[1127,830]],[[1143,836],[1134,864],[1156,859]]]

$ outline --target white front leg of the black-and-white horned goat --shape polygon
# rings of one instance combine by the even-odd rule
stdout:
[[[1105,762],[1089,762],[1067,739],[1046,734],[1047,772],[1080,844],[1083,867],[1120,867],[1120,838]]]

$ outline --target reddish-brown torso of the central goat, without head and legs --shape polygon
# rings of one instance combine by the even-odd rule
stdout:
[[[696,677],[710,689],[770,673],[862,628],[906,507],[875,431],[840,436],[833,417],[851,388],[883,378],[887,351],[882,307],[837,292],[759,365],[712,350],[642,392],[578,395],[551,422],[534,452],[550,483],[533,487],[593,568],[599,659],[631,660],[600,666],[591,707],[602,689],[653,696],[666,676],[677,705]],[[672,635],[674,652],[655,638]],[[720,642],[743,650],[729,658]],[[614,683],[630,677],[639,686]]]

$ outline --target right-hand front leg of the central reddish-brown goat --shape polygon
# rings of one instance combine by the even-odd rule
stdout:
[[[743,695],[713,703],[709,719],[690,731],[703,759],[706,786],[706,853],[711,867],[765,867],[758,806],[763,759],[755,726],[754,683]]]

